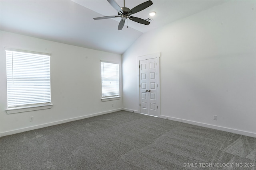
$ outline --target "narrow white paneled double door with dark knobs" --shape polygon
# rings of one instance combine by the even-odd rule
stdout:
[[[158,116],[157,59],[140,62],[140,113]]]

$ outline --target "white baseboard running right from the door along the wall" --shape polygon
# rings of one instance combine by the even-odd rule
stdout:
[[[196,121],[179,119],[179,118],[169,117],[169,116],[164,116],[164,115],[160,115],[160,118],[169,119],[169,120],[173,120],[173,121],[179,121],[179,122],[183,122],[183,123],[188,123],[188,124],[191,124],[191,125],[208,127],[208,128],[211,128],[211,129],[226,131],[226,132],[230,132],[230,133],[236,133],[236,134],[239,134],[239,135],[245,135],[245,136],[249,136],[249,137],[256,137],[256,133],[241,131],[241,130],[238,130],[238,129],[231,129],[231,128],[227,128],[227,127],[210,125],[210,124],[206,124],[206,123],[200,123],[200,122],[196,122]]]

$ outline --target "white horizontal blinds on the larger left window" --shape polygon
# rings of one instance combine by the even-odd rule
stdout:
[[[50,55],[6,50],[8,109],[51,103]]]

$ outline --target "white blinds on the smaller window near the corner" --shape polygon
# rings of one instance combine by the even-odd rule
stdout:
[[[119,64],[101,62],[102,98],[119,96]]]

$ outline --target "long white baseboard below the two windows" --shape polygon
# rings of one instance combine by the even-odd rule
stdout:
[[[7,135],[13,135],[13,134],[21,133],[21,132],[25,132],[25,131],[31,131],[31,130],[34,130],[34,129],[40,129],[40,128],[48,127],[48,126],[52,126],[52,125],[58,125],[58,124],[61,124],[61,123],[67,123],[67,122],[70,122],[70,121],[85,119],[85,118],[88,118],[88,117],[104,115],[104,114],[107,114],[107,113],[112,113],[112,112],[120,111],[120,110],[123,110],[123,109],[120,108],[120,109],[114,109],[114,110],[104,111],[104,112],[100,112],[100,113],[92,113],[90,115],[84,115],[84,116],[80,116],[80,117],[74,117],[74,118],[70,118],[70,119],[45,123],[45,124],[41,124],[41,125],[25,127],[25,128],[21,128],[21,129],[15,129],[15,130],[12,130],[12,131],[6,131],[6,132],[0,133],[0,137],[7,136]]]

